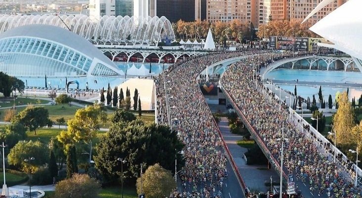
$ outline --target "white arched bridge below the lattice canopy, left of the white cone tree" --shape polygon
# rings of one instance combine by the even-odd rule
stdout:
[[[131,58],[137,60],[137,62],[165,62],[176,63],[180,59],[194,57],[200,54],[205,54],[205,50],[184,50],[179,47],[174,49],[129,49],[129,48],[116,48],[113,46],[102,46],[99,48],[104,55],[110,58],[112,61],[124,61],[130,62]]]

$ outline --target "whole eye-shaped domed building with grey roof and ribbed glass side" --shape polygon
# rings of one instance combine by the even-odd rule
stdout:
[[[0,71],[11,76],[115,76],[116,65],[69,30],[27,25],[0,34]]]

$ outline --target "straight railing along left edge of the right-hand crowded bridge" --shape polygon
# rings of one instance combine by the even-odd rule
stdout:
[[[223,91],[223,93],[226,96],[226,99],[228,99],[231,103],[231,106],[235,109],[235,112],[238,114],[239,118],[241,119],[241,121],[244,123],[246,129],[250,132],[251,136],[254,138],[255,142],[259,145],[259,147],[261,148],[261,150],[263,151],[264,155],[269,159],[269,162],[271,163],[271,166],[278,170],[278,174],[280,174],[280,165],[277,163],[277,160],[275,159],[275,157],[271,154],[270,150],[266,147],[266,145],[264,144],[264,141],[262,140],[262,138],[260,137],[260,135],[255,131],[255,129],[251,126],[251,124],[249,123],[249,121],[246,119],[246,117],[244,116],[244,114],[240,111],[239,107],[236,105],[236,103],[234,102],[234,99],[226,92],[226,90],[224,89],[223,85],[220,84],[220,89]],[[285,174],[284,170],[283,170],[283,177],[284,177],[284,182],[286,182],[287,179],[287,175]]]

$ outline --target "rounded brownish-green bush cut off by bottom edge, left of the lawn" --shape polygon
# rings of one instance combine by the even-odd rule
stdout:
[[[100,184],[85,174],[74,174],[55,186],[55,198],[98,198]]]

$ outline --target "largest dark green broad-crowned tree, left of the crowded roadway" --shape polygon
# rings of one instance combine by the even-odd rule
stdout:
[[[183,144],[177,133],[171,132],[167,126],[143,123],[141,120],[118,122],[112,124],[109,132],[100,138],[95,147],[97,155],[94,156],[94,162],[95,167],[105,177],[116,179],[121,176],[121,166],[117,158],[124,158],[127,160],[123,164],[123,170],[127,170],[125,177],[136,178],[139,176],[140,163],[159,163],[168,170],[174,170],[176,153],[182,148]],[[177,157],[177,166],[180,169],[183,159],[181,155]]]

